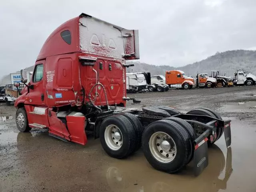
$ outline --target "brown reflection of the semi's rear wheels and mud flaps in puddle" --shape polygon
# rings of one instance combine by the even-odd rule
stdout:
[[[218,192],[226,189],[233,172],[231,148],[228,148],[226,157],[225,163],[225,156],[217,146],[209,149],[209,165],[198,177],[192,176],[190,166],[180,174],[166,174],[150,170],[141,162],[131,164],[121,161],[107,169],[106,178],[113,192]],[[223,179],[219,178],[220,174],[224,174]]]

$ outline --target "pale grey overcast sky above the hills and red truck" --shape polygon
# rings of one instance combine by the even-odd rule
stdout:
[[[148,64],[256,49],[256,0],[8,0],[0,2],[0,78],[34,65],[51,32],[82,12],[138,29],[140,62]]]

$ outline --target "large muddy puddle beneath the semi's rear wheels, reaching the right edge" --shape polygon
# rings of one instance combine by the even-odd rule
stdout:
[[[256,170],[251,167],[254,167],[254,158],[256,158],[256,153],[252,153],[254,151],[252,145],[256,144],[254,140],[256,129],[241,121],[232,122],[231,128],[231,148],[226,149],[224,136],[216,145],[208,148],[208,167],[198,177],[193,176],[192,163],[178,174],[166,174],[154,170],[145,160],[142,152],[137,152],[127,160],[113,160],[102,174],[106,175],[108,185],[113,192],[222,190],[254,192],[256,185],[253,180]],[[242,142],[244,140],[246,142]],[[238,178],[240,182],[237,182]]]

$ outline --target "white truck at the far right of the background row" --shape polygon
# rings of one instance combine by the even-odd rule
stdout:
[[[237,71],[235,72],[235,77],[233,80],[235,85],[255,85],[256,84],[256,76],[248,73],[246,74],[243,71]]]

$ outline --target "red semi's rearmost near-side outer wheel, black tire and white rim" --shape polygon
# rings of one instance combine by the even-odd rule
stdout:
[[[163,148],[161,150],[162,146],[165,148],[168,146],[163,143],[167,141],[167,137],[163,139],[165,136],[168,136],[169,148],[176,147],[176,150],[166,149],[168,152],[172,152],[169,153],[170,156]],[[157,142],[161,142],[163,145],[158,145]],[[184,167],[190,156],[190,143],[190,136],[186,130],[171,120],[163,119],[152,122],[142,134],[142,148],[146,159],[156,170],[167,173],[178,172]],[[170,147],[170,145],[172,146]]]

